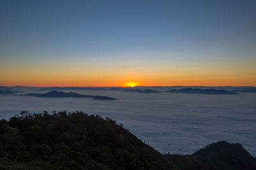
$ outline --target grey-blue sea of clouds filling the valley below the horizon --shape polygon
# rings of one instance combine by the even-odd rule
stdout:
[[[15,90],[23,91],[22,94],[36,92],[35,88]],[[228,141],[241,143],[251,155],[256,156],[256,94],[138,94],[110,90],[72,92],[115,97],[118,100],[1,95],[0,119],[8,119],[24,110],[31,113],[82,110],[116,120],[161,153],[193,153],[210,143]]]

